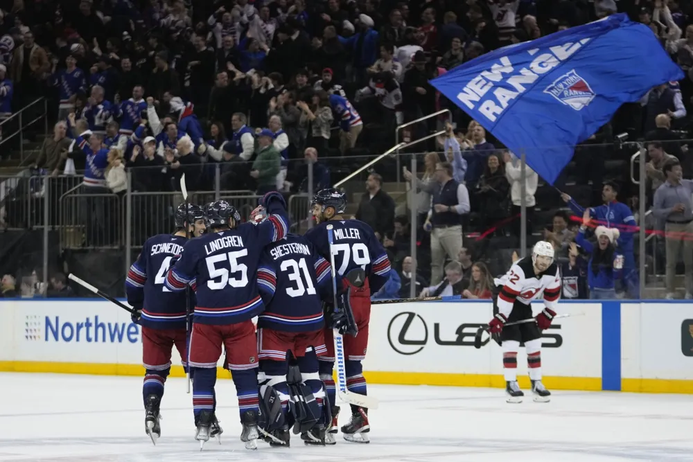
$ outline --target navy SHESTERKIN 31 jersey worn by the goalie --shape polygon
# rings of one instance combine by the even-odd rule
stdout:
[[[332,293],[330,264],[304,236],[289,234],[265,247],[257,285],[265,304],[258,327],[310,332],[324,326],[321,297]]]

